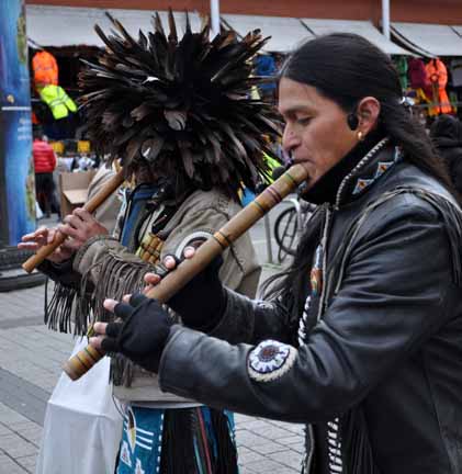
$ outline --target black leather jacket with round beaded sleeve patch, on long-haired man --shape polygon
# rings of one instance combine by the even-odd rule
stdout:
[[[325,206],[320,317],[273,377],[252,373],[252,345],[293,340],[289,311],[233,292],[216,337],[174,326],[162,354],[165,391],[319,432],[336,420],[337,467],[313,462],[308,426],[305,472],[462,473],[461,213],[406,161],[375,179],[393,153],[360,163]]]

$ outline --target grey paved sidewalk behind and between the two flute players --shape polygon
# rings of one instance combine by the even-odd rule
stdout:
[[[261,233],[252,240],[264,261]],[[0,293],[0,474],[35,472],[46,402],[74,347],[43,325],[43,286]],[[302,426],[237,415],[236,427],[241,474],[300,472]]]

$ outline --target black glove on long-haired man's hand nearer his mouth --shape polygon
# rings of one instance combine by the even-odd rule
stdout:
[[[177,264],[180,263],[178,258],[171,257],[177,260]],[[218,278],[222,264],[222,256],[216,257],[167,302],[181,316],[185,326],[207,332],[222,318],[226,308],[226,292]]]

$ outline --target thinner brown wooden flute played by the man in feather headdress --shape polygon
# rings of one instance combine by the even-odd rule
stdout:
[[[83,208],[89,213],[93,213],[123,182],[124,171],[119,170],[101,189],[88,201]],[[29,258],[22,268],[31,273],[38,264],[41,264],[49,255],[52,255],[65,240],[67,236],[57,233],[53,242],[42,247],[35,255]]]

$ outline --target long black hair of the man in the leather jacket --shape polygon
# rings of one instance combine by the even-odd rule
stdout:
[[[391,58],[372,43],[349,33],[308,41],[292,53],[280,78],[316,88],[347,113],[354,113],[361,99],[374,97],[381,105],[379,126],[402,148],[404,159],[433,176],[458,199],[425,128],[402,104],[402,87]],[[292,297],[298,314],[303,309],[302,295],[306,292],[313,252],[319,241],[323,216],[318,214],[309,222],[291,268],[263,286],[267,297],[282,294]]]

